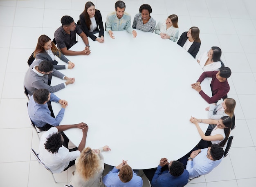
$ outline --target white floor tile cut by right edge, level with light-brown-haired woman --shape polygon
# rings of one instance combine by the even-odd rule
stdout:
[[[245,119],[255,119],[255,110],[252,107],[256,105],[256,95],[238,95]]]

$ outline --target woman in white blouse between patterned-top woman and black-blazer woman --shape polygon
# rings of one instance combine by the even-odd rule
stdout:
[[[155,27],[155,33],[159,34],[162,39],[169,39],[176,42],[179,36],[178,16],[169,15],[167,20],[158,22]]]

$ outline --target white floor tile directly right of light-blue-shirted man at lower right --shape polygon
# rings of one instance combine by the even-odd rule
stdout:
[[[216,177],[218,176],[218,177]],[[220,165],[214,168],[209,174],[205,175],[207,182],[234,180],[236,179],[229,156],[222,159]]]

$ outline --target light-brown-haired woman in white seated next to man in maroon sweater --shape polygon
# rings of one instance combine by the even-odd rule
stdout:
[[[235,99],[226,98],[219,105],[216,105],[216,103],[211,103],[209,107],[205,108],[205,110],[209,111],[209,119],[219,120],[223,116],[229,116],[230,118],[232,118],[234,115],[235,107]]]

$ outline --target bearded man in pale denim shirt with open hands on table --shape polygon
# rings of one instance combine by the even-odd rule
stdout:
[[[137,36],[137,32],[131,28],[130,14],[124,12],[125,8],[126,6],[123,1],[117,1],[115,3],[115,12],[107,15],[106,31],[112,39],[115,38],[112,31],[126,30],[128,33],[132,33],[134,38]]]

